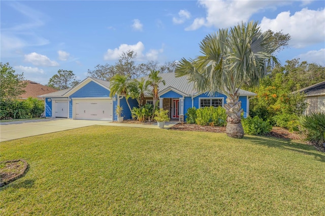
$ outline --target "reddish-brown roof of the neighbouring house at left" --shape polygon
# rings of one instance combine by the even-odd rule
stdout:
[[[24,89],[25,93],[19,96],[20,100],[26,100],[28,97],[34,97],[38,98],[39,100],[44,100],[43,98],[40,98],[38,96],[58,91],[57,89],[53,89],[51,87],[44,86],[42,84],[30,80],[26,80],[25,82],[27,82],[27,86]]]

